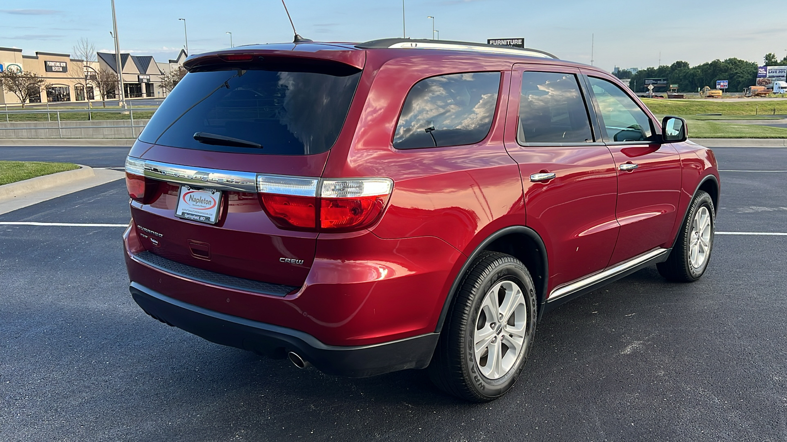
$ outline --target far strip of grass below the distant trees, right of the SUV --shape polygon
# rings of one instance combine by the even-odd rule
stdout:
[[[697,115],[700,113],[720,113],[731,115],[787,115],[787,100],[763,100],[752,98],[749,101],[670,100],[641,98],[653,112],[660,115]]]

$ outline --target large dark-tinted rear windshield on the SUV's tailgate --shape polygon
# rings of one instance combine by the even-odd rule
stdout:
[[[164,100],[139,139],[222,152],[325,152],[342,130],[360,70],[299,71],[190,72]],[[197,138],[202,142],[194,139],[195,134],[200,134]],[[235,141],[227,142],[227,138]]]

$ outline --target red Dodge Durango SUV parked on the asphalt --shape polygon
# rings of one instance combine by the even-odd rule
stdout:
[[[131,294],[218,344],[512,387],[545,311],[708,266],[719,173],[593,66],[383,39],[190,57],[126,162]]]

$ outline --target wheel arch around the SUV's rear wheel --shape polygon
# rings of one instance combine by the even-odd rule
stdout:
[[[535,230],[525,226],[511,226],[504,229],[497,230],[489,237],[481,241],[481,243],[473,250],[470,256],[465,260],[464,265],[456,274],[451,289],[445,297],[438,325],[434,330],[440,333],[442,326],[445,323],[445,318],[450,311],[453,303],[454,293],[459,289],[459,285],[467,272],[467,268],[483,251],[502,252],[514,256],[516,259],[522,261],[530,272],[533,278],[533,284],[536,288],[536,295],[538,300],[538,311],[541,313],[541,304],[546,300],[547,288],[549,284],[549,261],[547,260],[546,247],[544,241],[536,233]]]

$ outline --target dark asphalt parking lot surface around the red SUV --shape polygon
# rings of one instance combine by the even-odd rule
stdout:
[[[787,149],[715,148],[719,234],[545,315],[525,375],[474,405],[407,370],[346,379],[226,348],[131,300],[122,180],[0,215],[0,440],[787,440]],[[127,148],[0,148],[122,167]],[[56,156],[56,157],[53,157]]]

